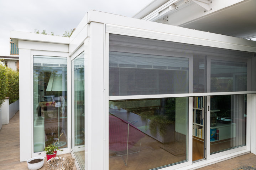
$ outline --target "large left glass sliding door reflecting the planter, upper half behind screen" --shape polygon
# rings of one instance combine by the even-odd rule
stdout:
[[[177,51],[176,45],[110,34],[110,170],[160,169],[189,163],[188,97],[158,97],[189,92],[193,56]]]

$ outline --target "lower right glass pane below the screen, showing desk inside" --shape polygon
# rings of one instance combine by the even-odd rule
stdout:
[[[246,145],[246,95],[211,96],[210,154]]]

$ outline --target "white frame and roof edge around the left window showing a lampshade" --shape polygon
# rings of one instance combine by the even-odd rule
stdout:
[[[33,56],[57,56],[67,58],[67,76],[68,68],[68,42],[64,37],[43,36],[39,34],[11,32],[11,36],[19,43],[20,49],[20,161],[26,161],[31,157],[42,155],[45,152],[33,153]],[[41,41],[40,41],[41,40]],[[52,42],[52,43],[49,43]],[[67,95],[69,94],[70,83],[67,79]],[[70,112],[69,99],[67,113]],[[68,115],[68,121],[70,115]],[[70,122],[68,122],[70,125]],[[68,128],[68,138],[70,127]],[[68,142],[69,145],[69,142]],[[69,148],[64,149],[58,154],[69,153]]]

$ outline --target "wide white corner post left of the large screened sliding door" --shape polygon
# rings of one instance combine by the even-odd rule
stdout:
[[[104,24],[91,22],[89,32],[88,170],[104,170]]]

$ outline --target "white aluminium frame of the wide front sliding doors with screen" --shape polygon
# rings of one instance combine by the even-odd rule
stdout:
[[[119,34],[119,35],[128,35],[128,36],[136,36],[136,37],[141,37],[141,38],[148,38],[148,39],[157,39],[157,40],[165,40],[165,41],[174,41],[174,42],[181,42],[181,43],[186,43],[186,44],[195,44],[195,45],[203,45],[203,46],[210,46],[210,47],[218,47],[218,48],[226,48],[226,49],[231,49],[231,50],[240,50],[240,51],[255,51],[256,50],[248,50],[247,47],[244,47],[243,45],[234,45],[231,43],[227,42],[216,42],[213,40],[207,40],[207,39],[194,39],[191,37],[186,37],[184,38],[183,36],[178,36],[178,35],[173,35],[173,34],[167,34],[167,33],[161,33],[161,32],[153,32],[150,30],[142,30],[142,29],[137,29],[137,28],[130,28],[130,27],[123,27],[123,26],[117,26],[113,24],[106,24],[106,40],[109,39],[109,34]],[[106,41],[106,58],[104,60],[104,65],[108,66],[108,50],[109,50],[109,41]],[[215,58],[216,60],[216,58]],[[238,61],[245,61],[241,59],[237,59]],[[208,60],[209,61],[209,60]],[[233,60],[234,61],[234,60]],[[249,60],[247,60],[248,63]],[[246,62],[246,63],[247,63]],[[189,66],[192,66],[193,62],[189,61]],[[247,64],[247,70],[251,70],[251,65]],[[106,77],[105,77],[105,82],[108,82],[109,76],[108,76],[108,67],[105,69]],[[189,69],[190,72],[190,69]],[[191,72],[190,72],[191,73]],[[190,74],[189,73],[189,74]],[[192,70],[193,73],[193,70]],[[249,73],[249,74],[248,74]],[[247,72],[247,77],[251,78],[251,73]],[[191,78],[192,79],[192,78]],[[189,83],[192,82],[189,79]],[[251,83],[250,83],[251,84]],[[250,86],[250,85],[249,85]],[[190,85],[189,85],[190,89]],[[250,87],[249,87],[250,89]],[[251,94],[255,94],[256,91],[241,91],[241,92],[207,92],[207,93],[189,93],[189,94],[165,94],[165,95],[137,95],[137,96],[109,96],[108,100],[129,100],[129,99],[143,99],[143,98],[163,98],[163,97],[189,97],[189,116],[188,116],[188,126],[192,127],[192,97],[193,96],[213,96],[213,95],[234,95],[234,94],[247,94],[247,137],[246,137],[246,146],[235,148],[235,149],[230,149],[228,151],[216,153],[210,155],[210,150],[209,150],[209,145],[210,142],[207,142],[207,159],[202,160],[200,162],[195,162],[192,163],[192,130],[191,128],[188,128],[188,162],[184,162],[181,164],[176,164],[172,166],[168,166],[166,168],[162,168],[163,170],[173,170],[173,169],[197,169],[199,167],[203,167],[209,164],[213,164],[216,162],[223,161],[225,159],[229,159],[231,157],[235,157],[237,155],[249,153],[251,149]],[[107,103],[107,102],[106,102]],[[191,105],[191,106],[190,106]],[[108,113],[108,106],[105,106],[105,112]],[[210,124],[210,118],[207,118],[207,126]],[[108,118],[105,118],[106,124],[108,123]],[[108,126],[106,126],[106,129],[108,129]],[[208,132],[209,131],[209,132]],[[105,132],[108,134],[108,131]],[[207,141],[209,141],[209,133],[210,133],[210,128],[207,128]],[[108,137],[106,136],[107,142],[108,143]],[[209,143],[209,144],[208,144]],[[108,148],[106,147],[106,152]],[[108,154],[105,155],[106,158]],[[108,163],[105,163],[108,167]]]

